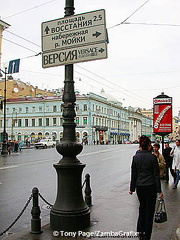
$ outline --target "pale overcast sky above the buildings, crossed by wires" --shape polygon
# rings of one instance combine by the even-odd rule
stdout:
[[[103,88],[123,106],[147,109],[164,91],[173,97],[177,115],[180,1],[74,0],[74,5],[75,14],[105,9],[109,36],[108,59],[75,64],[75,88],[81,93],[97,94]],[[63,18],[64,7],[65,0],[2,1],[1,19],[11,26],[3,32],[1,67],[20,58],[20,72],[13,75],[15,79],[43,89],[63,87],[64,66],[43,69],[42,57],[35,55],[41,52],[41,23]],[[126,24],[121,24],[125,19]]]

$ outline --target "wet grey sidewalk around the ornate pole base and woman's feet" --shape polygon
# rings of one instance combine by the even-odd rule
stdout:
[[[168,213],[168,222],[158,224],[154,223],[152,240],[179,240],[180,229],[176,231],[180,226],[180,210],[179,199],[180,189],[172,189],[171,186],[162,184],[166,209]],[[128,183],[123,186],[114,186],[110,192],[104,192],[101,196],[93,196],[91,207],[91,226],[84,229],[84,234],[98,233],[100,236],[96,237],[82,237],[76,233],[76,237],[54,237],[53,231],[49,227],[49,217],[42,219],[42,234],[30,234],[30,228],[17,234],[10,236],[3,235],[1,239],[7,240],[54,240],[54,239],[95,239],[98,240],[105,232],[114,234],[120,232],[121,236],[124,232],[135,232],[136,221],[138,215],[138,200],[136,194],[130,196],[128,194]],[[172,204],[173,200],[173,204]],[[176,214],[176,218],[175,215]],[[178,221],[178,222],[177,222]],[[177,232],[177,233],[176,233]],[[179,236],[178,236],[179,234]],[[177,236],[176,236],[177,235]],[[106,239],[113,239],[114,237],[106,237]],[[118,237],[117,239],[138,239],[137,237]]]

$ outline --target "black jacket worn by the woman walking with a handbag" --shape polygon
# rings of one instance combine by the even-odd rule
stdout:
[[[161,182],[157,157],[148,151],[140,151],[133,157],[131,165],[130,191],[137,186],[156,185],[157,193],[161,192]]]

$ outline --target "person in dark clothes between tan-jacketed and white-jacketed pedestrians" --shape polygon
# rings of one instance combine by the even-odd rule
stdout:
[[[169,146],[169,143],[165,143],[163,157],[166,162],[166,168],[165,168],[166,183],[169,182],[169,170],[170,170],[171,175],[174,178],[174,182],[175,182],[175,173],[174,173],[174,170],[172,169],[173,157],[170,156],[171,150],[172,150],[172,148]]]

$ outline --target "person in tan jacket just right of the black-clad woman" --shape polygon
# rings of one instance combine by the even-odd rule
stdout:
[[[159,149],[160,149],[159,143],[153,144],[153,150],[154,150],[153,154],[156,155],[159,163],[160,178],[164,179],[166,162],[163,155],[159,152]]]

